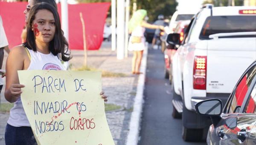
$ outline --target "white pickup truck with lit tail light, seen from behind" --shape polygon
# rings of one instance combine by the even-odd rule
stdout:
[[[256,8],[203,8],[185,34],[181,44],[175,41],[178,34],[167,38],[180,45],[172,60],[172,116],[182,114],[185,141],[198,141],[206,138],[212,123],[195,113],[195,103],[210,98],[225,103],[241,74],[256,60]]]

